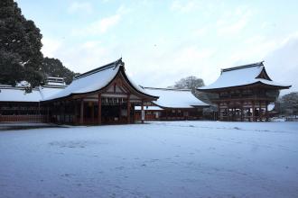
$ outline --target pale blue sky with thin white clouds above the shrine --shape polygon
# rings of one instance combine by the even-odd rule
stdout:
[[[43,35],[45,56],[85,72],[123,57],[136,83],[173,85],[265,60],[298,90],[298,1],[17,0]]]

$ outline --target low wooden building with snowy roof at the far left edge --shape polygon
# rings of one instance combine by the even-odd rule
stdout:
[[[31,93],[26,93],[29,84],[25,81],[15,86],[0,85],[0,122],[47,121],[46,109],[40,101],[61,92],[65,86],[64,78],[52,76],[45,85],[34,87]]]

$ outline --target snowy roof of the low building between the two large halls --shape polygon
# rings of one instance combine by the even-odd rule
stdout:
[[[165,108],[193,108],[194,106],[209,106],[191,94],[190,89],[170,89],[144,87],[149,94],[158,95],[159,99],[154,101],[156,105]]]

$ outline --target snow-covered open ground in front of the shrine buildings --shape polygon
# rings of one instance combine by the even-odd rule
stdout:
[[[298,197],[298,123],[2,130],[0,197]]]

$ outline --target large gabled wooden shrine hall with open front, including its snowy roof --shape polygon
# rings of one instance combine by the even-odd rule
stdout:
[[[76,76],[58,94],[42,101],[51,122],[116,124],[135,122],[135,105],[157,100],[126,75],[122,58]],[[143,120],[144,121],[144,120]]]

